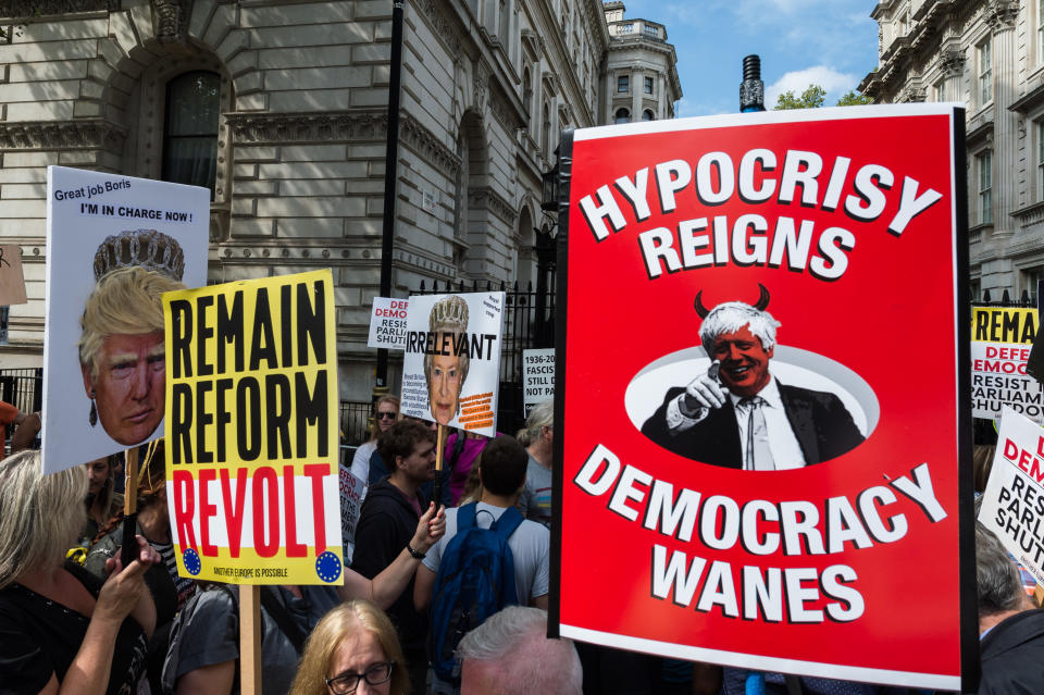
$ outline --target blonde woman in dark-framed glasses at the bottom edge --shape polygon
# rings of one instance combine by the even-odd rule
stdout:
[[[391,621],[370,601],[350,600],[315,625],[290,695],[406,695],[409,688]]]

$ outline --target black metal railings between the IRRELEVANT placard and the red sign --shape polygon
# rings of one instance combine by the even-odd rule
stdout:
[[[554,272],[547,286],[555,286]],[[464,291],[505,293],[497,430],[514,434],[525,424],[525,407],[522,404],[522,351],[555,347],[555,293],[547,291],[544,287],[534,289],[532,284],[523,289],[518,283],[508,285],[502,282],[499,285],[490,282],[474,282],[470,285],[460,282],[442,286],[435,282],[428,288],[422,281],[421,288],[415,294],[439,295]]]

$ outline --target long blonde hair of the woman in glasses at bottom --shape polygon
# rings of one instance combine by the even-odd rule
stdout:
[[[391,668],[391,695],[407,695],[410,692],[406,658],[391,621],[370,601],[356,599],[331,610],[312,630],[304,643],[304,653],[294,685],[290,686],[290,695],[326,694],[326,678],[334,655],[353,630],[365,630],[374,635],[387,659],[395,662]]]

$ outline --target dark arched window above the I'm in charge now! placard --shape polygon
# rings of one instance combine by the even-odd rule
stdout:
[[[217,173],[221,76],[197,71],[166,84],[163,181],[206,186],[213,198]]]

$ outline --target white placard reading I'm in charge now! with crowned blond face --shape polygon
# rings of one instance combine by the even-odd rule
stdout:
[[[163,434],[164,291],[207,284],[210,191],[47,169],[44,472]]]

